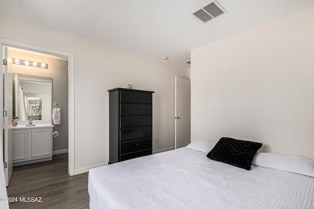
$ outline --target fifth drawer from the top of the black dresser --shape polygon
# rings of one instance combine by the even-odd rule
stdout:
[[[152,149],[152,138],[136,139],[120,143],[120,154],[136,152],[144,149]]]

